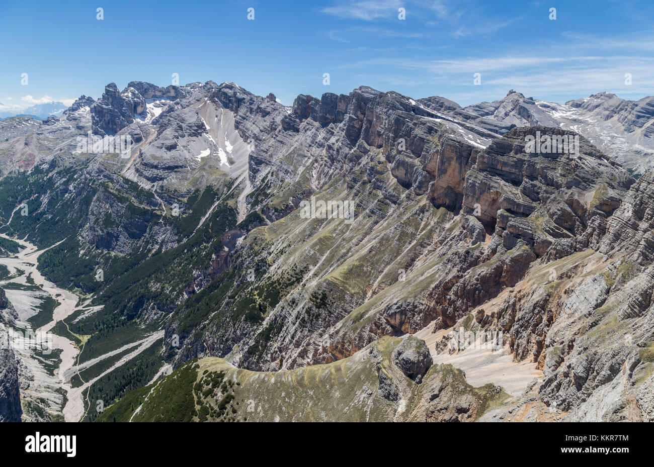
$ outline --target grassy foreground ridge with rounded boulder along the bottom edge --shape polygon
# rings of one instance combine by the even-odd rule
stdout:
[[[505,398],[451,366],[431,366],[421,340],[383,338],[338,362],[277,373],[191,362],[98,421],[474,421]]]

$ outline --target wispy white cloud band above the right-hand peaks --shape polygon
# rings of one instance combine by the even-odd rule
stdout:
[[[341,65],[343,69],[366,70],[380,76],[378,83],[390,86],[430,84],[448,88],[447,97],[470,101],[502,97],[508,89],[545,99],[566,95],[583,97],[609,91],[621,95],[648,95],[654,89],[654,61],[647,56],[494,56],[461,59],[421,57],[377,57]],[[407,71],[411,71],[407,78]],[[473,74],[481,73],[481,86],[473,85]],[[625,73],[632,84],[625,84]],[[434,91],[441,93],[441,91]],[[443,93],[441,93],[443,95]],[[477,99],[470,96],[477,95]],[[424,97],[424,96],[412,96]]]

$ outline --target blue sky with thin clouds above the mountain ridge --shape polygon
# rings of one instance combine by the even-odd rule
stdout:
[[[167,86],[173,73],[287,105],[361,85],[461,105],[508,89],[561,103],[599,91],[640,99],[654,94],[651,18],[651,0],[0,0],[0,102],[97,98],[109,82]]]

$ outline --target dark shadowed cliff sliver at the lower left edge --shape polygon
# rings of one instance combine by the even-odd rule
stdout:
[[[0,422],[19,422],[22,415],[18,364],[7,332],[14,313],[5,291],[0,289]]]

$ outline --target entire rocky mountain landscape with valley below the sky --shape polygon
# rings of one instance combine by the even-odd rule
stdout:
[[[653,155],[654,97],[609,93],[1,120],[0,420],[654,421]]]

